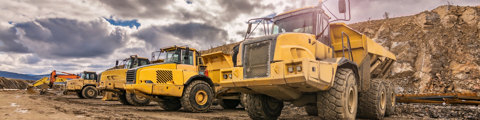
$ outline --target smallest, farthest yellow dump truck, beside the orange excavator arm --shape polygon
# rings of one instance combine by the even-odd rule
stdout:
[[[80,78],[65,81],[64,90],[66,92],[75,92],[79,98],[93,99],[99,92],[96,87],[97,74],[95,72],[84,71],[78,73]]]

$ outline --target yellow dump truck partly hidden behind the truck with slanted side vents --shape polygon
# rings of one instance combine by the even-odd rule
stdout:
[[[125,84],[125,75],[128,69],[148,65],[151,63],[151,61],[149,61],[147,58],[138,57],[137,55],[130,56],[130,58],[120,61],[120,64],[122,64],[121,66],[123,66],[122,68],[119,68],[119,60],[117,60],[115,67],[119,69],[108,70],[98,74],[98,83],[96,88],[101,91],[115,93],[117,95],[117,99],[124,105],[148,105],[151,101],[150,99],[137,96],[132,93],[126,93],[125,89],[123,89],[123,84]],[[109,96],[109,94],[104,94],[104,99],[108,99]]]

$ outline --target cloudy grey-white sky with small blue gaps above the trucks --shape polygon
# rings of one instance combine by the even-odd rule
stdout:
[[[455,5],[478,0],[450,0]],[[350,22],[432,10],[446,0],[351,0]],[[2,0],[0,71],[101,72],[168,46],[206,50],[243,39],[249,19],[318,0]],[[325,6],[338,12],[337,0]],[[338,14],[337,14],[338,15]],[[343,15],[342,15],[343,16]]]

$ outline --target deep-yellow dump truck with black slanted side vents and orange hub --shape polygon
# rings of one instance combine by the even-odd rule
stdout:
[[[216,87],[220,87],[216,83],[220,80],[217,72],[232,67],[231,58],[222,53],[207,54],[207,63],[196,49],[188,46],[161,48],[161,52],[165,62],[129,69],[123,88],[127,93],[157,101],[166,110],[206,112],[216,97]]]

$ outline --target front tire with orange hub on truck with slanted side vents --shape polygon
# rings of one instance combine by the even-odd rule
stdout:
[[[204,105],[200,105],[195,100],[197,91],[204,90],[207,94],[207,101]],[[213,101],[212,87],[204,81],[194,80],[183,89],[183,95],[180,97],[182,108],[187,112],[206,112]]]

